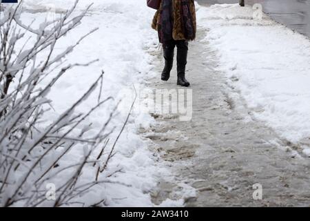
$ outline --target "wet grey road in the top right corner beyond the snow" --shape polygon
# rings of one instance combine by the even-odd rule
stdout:
[[[197,0],[202,5],[238,3],[238,0]],[[310,0],[245,0],[247,5],[261,3],[263,11],[274,20],[310,37]]]

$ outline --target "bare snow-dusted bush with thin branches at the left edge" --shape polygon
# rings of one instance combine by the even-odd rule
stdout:
[[[90,9],[89,6],[76,15],[77,3],[58,19],[41,23],[39,28],[34,28],[33,22],[25,25],[21,21],[22,1],[17,6],[0,10],[0,206],[85,206],[85,202],[79,202],[81,195],[90,191],[92,186],[111,182],[107,179],[111,173],[99,175],[114,155],[114,146],[127,121],[112,148],[107,146],[114,128],[109,131],[107,125],[114,113],[108,114],[110,118],[100,131],[92,133],[92,137],[85,136],[92,129],[90,125],[79,134],[73,133],[87,123],[87,117],[112,99],[101,100],[99,95],[98,104],[87,113],[76,114],[74,111],[96,88],[102,92],[103,72],[72,106],[48,126],[41,126],[46,118],[46,106],[52,103],[48,94],[56,81],[74,66],[89,66],[96,61],[66,65],[63,62],[85,37],[96,30],[63,52],[54,50],[59,39],[79,26]],[[47,78],[50,79],[47,84],[41,84],[48,75],[54,77]],[[84,150],[81,160],[63,163],[72,148],[79,147]],[[94,179],[82,182],[81,175],[86,167],[94,171]],[[113,173],[118,171],[121,170]],[[60,179],[61,174],[65,175]],[[57,183],[58,194],[52,202],[45,194],[46,182]],[[104,201],[97,199],[92,204],[98,206],[98,202]]]

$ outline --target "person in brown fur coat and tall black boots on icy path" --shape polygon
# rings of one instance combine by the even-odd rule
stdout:
[[[159,42],[163,46],[165,67],[161,74],[168,81],[174,62],[174,48],[177,48],[177,84],[189,86],[185,79],[188,42],[196,38],[196,11],[194,0],[161,0],[154,15],[152,28],[157,30]]]

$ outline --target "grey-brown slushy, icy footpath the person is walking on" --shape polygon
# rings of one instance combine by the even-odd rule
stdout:
[[[242,101],[229,97],[234,88],[214,70],[219,63],[212,48],[200,41],[205,35],[207,30],[200,28],[189,49],[192,121],[158,116],[153,133],[145,133],[178,177],[158,185],[154,202],[174,198],[176,184],[184,182],[197,189],[197,198],[185,199],[187,206],[310,206],[309,159],[251,119]],[[159,79],[149,86],[178,88],[175,71],[167,84]],[[262,184],[263,200],[252,198],[256,183]]]

